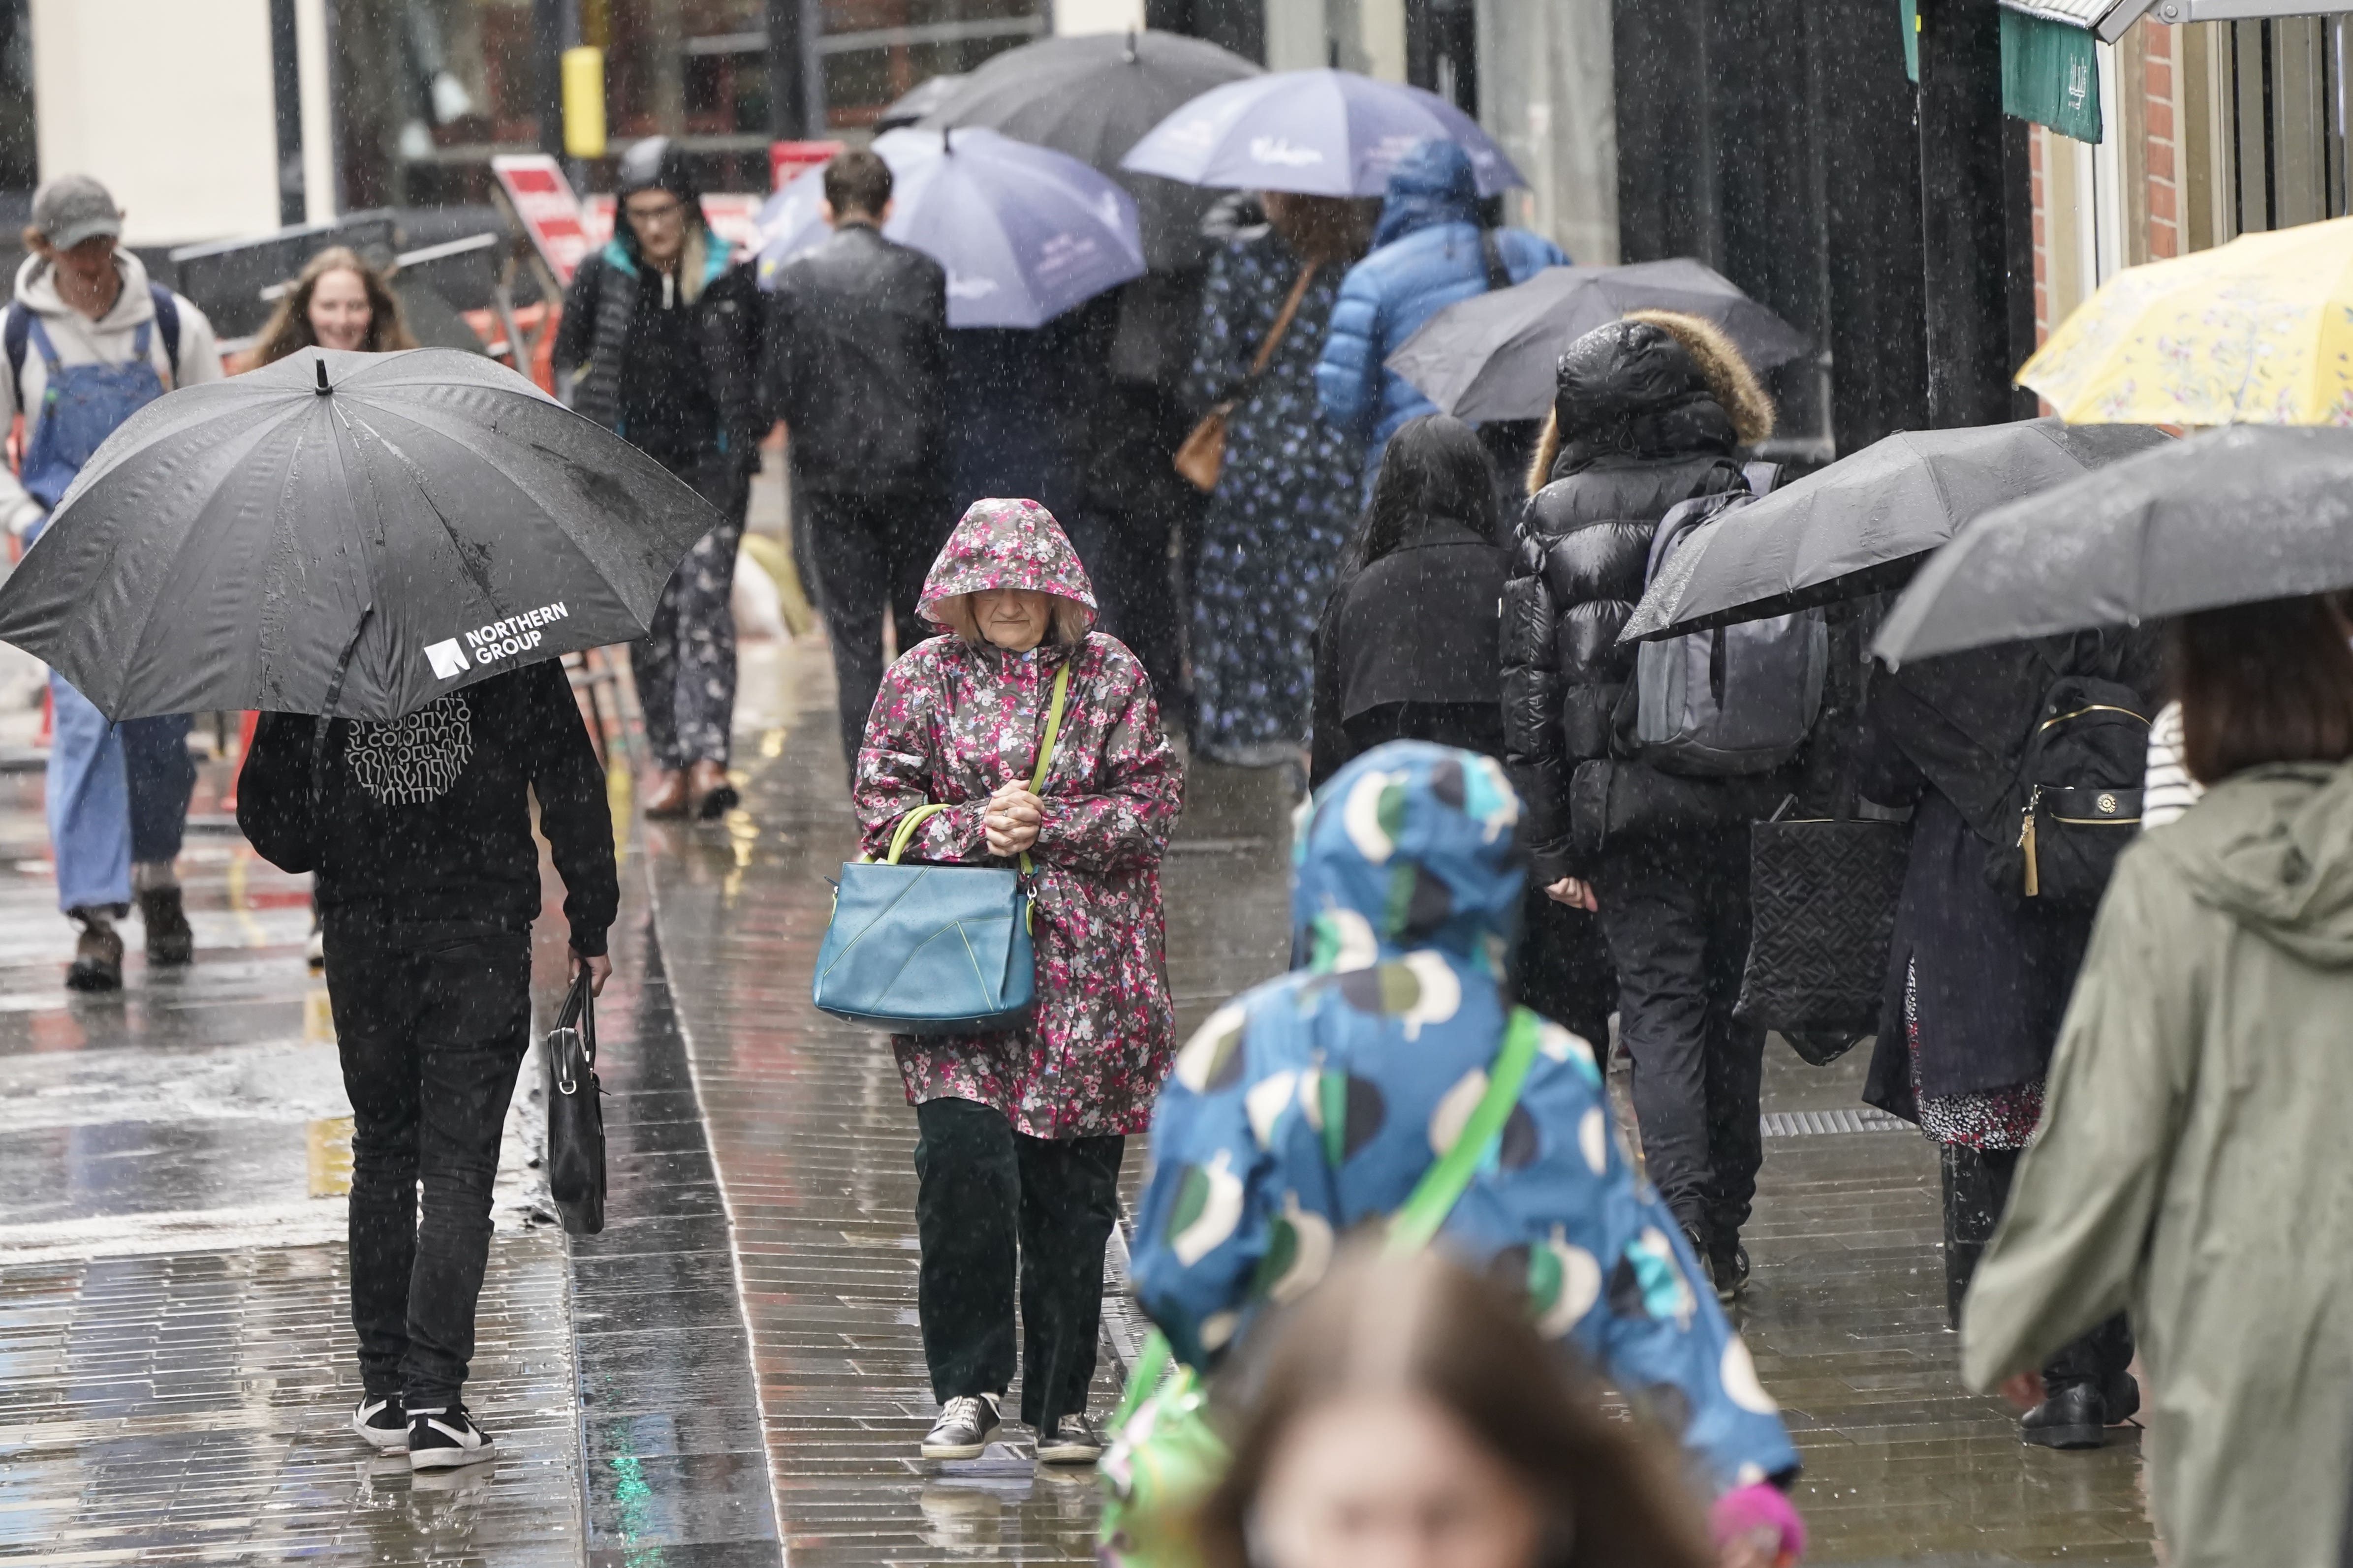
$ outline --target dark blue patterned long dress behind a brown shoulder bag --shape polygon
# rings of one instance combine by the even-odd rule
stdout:
[[[1209,261],[1193,360],[1202,407],[1242,393],[1299,268],[1273,230],[1249,230]],[[1266,374],[1226,421],[1226,468],[1200,524],[1193,583],[1193,738],[1214,762],[1287,762],[1308,741],[1315,621],[1355,527],[1362,463],[1315,400],[1346,270],[1318,268]]]

